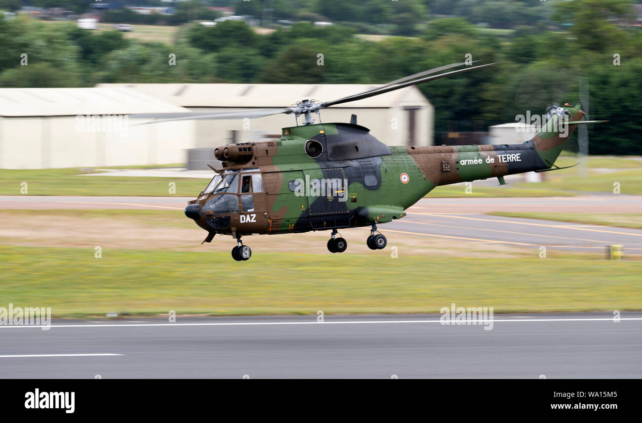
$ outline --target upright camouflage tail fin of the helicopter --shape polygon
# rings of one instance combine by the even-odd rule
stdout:
[[[558,107],[557,110],[550,112],[550,118],[542,126],[541,131],[533,137],[535,150],[546,166],[553,166],[577,125],[584,123],[580,122],[584,114],[579,104],[567,109]],[[566,116],[570,116],[570,119],[565,120]]]

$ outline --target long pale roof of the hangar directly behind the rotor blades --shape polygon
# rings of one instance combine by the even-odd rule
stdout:
[[[288,107],[304,99],[335,100],[381,85],[365,84],[98,84],[96,87],[129,87],[182,107]],[[333,107],[374,108],[395,105],[428,106],[417,87]]]

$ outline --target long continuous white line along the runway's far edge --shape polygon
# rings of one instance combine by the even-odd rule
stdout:
[[[316,317],[316,316],[315,316]],[[618,318],[622,320],[642,320],[642,318]],[[377,325],[395,323],[449,323],[451,325],[464,325],[465,323],[476,323],[480,325],[490,320],[342,320],[342,321],[235,321],[220,323],[109,323],[97,325],[51,325],[51,328],[87,328],[87,327],[177,327],[177,326],[266,326],[266,325]],[[577,318],[577,319],[493,319],[493,323],[533,323],[545,321],[614,321],[614,318]],[[46,326],[0,326],[0,329],[7,328],[38,328]]]

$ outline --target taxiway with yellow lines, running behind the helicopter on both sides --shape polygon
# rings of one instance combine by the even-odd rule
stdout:
[[[187,197],[57,197],[0,196],[0,209],[51,210],[136,209],[184,210]],[[642,230],[537,219],[483,215],[487,212],[639,213],[642,196],[580,195],[578,197],[422,199],[408,216],[379,225],[382,233],[400,233],[453,242],[505,244],[539,252],[562,249],[604,253],[610,245],[623,246],[625,255],[642,254]]]

